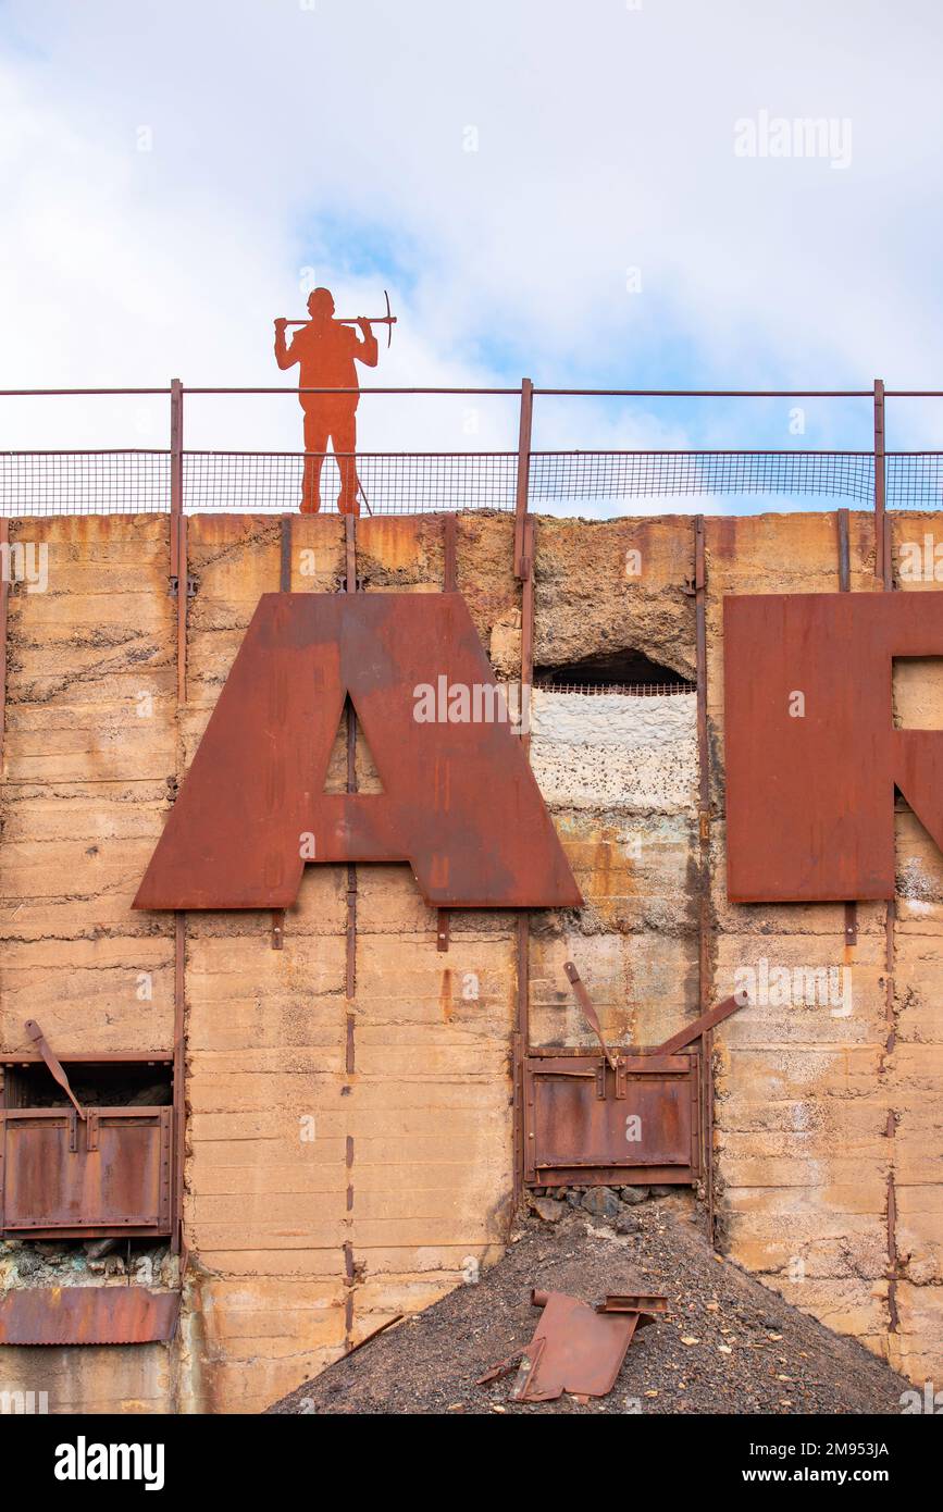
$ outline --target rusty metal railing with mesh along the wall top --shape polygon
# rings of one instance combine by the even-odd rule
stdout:
[[[878,550],[887,508],[943,508],[943,451],[886,451],[887,399],[940,399],[943,390],[872,389],[20,389],[0,398],[166,396],[168,448],[0,452],[0,517],[100,513],[295,513],[304,452],[193,451],[183,445],[184,395],[459,395],[514,398],[520,407],[515,451],[358,452],[364,513],[441,514],[497,510],[517,517],[515,558],[523,556],[523,520],[549,503],[672,499],[691,496],[836,497],[875,511]],[[867,451],[532,449],[538,398],[620,399],[855,399],[873,413]],[[334,455],[320,479],[322,510],[335,508]]]

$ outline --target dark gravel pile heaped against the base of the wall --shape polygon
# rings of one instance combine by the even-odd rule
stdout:
[[[716,1255],[689,1193],[626,1196],[532,1198],[508,1252],[476,1285],[370,1340],[269,1412],[901,1412],[908,1382]],[[511,1400],[514,1371],[475,1382],[530,1340],[532,1287],[585,1302],[663,1293],[671,1311],[636,1335],[608,1397],[521,1405]]]

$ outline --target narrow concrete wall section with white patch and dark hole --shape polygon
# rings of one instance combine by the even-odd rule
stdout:
[[[536,555],[538,667],[635,649],[694,677],[689,519],[541,520]],[[533,724],[533,770],[586,906],[533,916],[532,1040],[595,1043],[564,975],[571,959],[606,1036],[657,1043],[698,1013],[692,697],[538,691]]]

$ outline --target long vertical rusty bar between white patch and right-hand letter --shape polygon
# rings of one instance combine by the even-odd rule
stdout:
[[[694,614],[697,656],[698,735],[698,1002],[706,1013],[712,998],[710,975],[710,742],[707,739],[707,553],[704,516],[694,517]],[[703,1167],[707,1188],[707,1237],[716,1237],[713,1202],[713,1030],[703,1036]]]

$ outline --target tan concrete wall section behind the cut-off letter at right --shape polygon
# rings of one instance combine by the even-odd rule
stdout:
[[[926,531],[938,538],[940,516],[896,517],[895,556]],[[722,596],[836,591],[836,519],[710,520],[707,562],[710,780],[722,815]],[[877,591],[869,516],[851,516],[851,588]],[[895,682],[898,712],[904,700],[922,706],[926,727],[943,727],[929,668],[910,668]],[[793,996],[725,1027],[718,1170],[731,1253],[798,1306],[926,1380],[943,1368],[943,1013],[935,998],[943,859],[902,803],[896,838],[896,918],[889,930],[884,904],[860,904],[858,942],[846,947],[842,904],[728,904],[716,826],[718,993],[731,990],[736,969],[759,971],[762,962],[846,968],[849,984],[848,1002]]]

